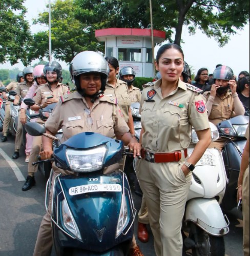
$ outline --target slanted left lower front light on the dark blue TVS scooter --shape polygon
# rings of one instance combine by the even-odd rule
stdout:
[[[64,222],[65,228],[71,234],[73,234],[77,239],[82,241],[79,229],[75,223],[75,220],[70,212],[70,209],[69,209],[65,199],[62,201],[61,211],[63,213],[63,222]]]

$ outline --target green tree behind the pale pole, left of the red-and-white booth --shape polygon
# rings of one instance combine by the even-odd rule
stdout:
[[[73,57],[85,50],[96,51],[101,46],[95,40],[88,25],[75,18],[76,6],[73,0],[57,0],[51,4],[51,45],[52,54],[57,60],[71,62]],[[34,24],[49,25],[49,13],[39,13]],[[49,58],[49,31],[34,34],[29,49],[29,61]]]

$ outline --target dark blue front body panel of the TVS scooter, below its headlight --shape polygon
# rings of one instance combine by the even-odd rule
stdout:
[[[102,253],[112,250],[119,244],[124,245],[125,251],[129,248],[133,238],[133,209],[131,207],[128,207],[129,218],[125,228],[128,233],[126,235],[121,233],[117,238],[115,237],[122,200],[122,193],[116,187],[117,185],[123,187],[122,176],[123,174],[117,171],[107,175],[90,174],[85,177],[62,176],[59,178],[60,182],[55,183],[52,218],[60,228],[69,232],[64,226],[61,209],[61,201],[66,199],[75,218],[82,241],[73,239],[52,223],[57,251],[64,251],[66,248],[68,250],[69,248],[77,248],[82,251]],[[97,184],[109,184],[111,191],[96,192],[95,186]],[[78,191],[76,187],[78,187]],[[74,194],[80,192],[79,189],[84,187],[88,187],[89,191]],[[129,206],[131,205],[131,202],[129,202],[130,187],[127,178],[124,179],[124,188],[124,198]]]

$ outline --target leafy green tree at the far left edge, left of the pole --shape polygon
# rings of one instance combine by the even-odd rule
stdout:
[[[27,48],[31,40],[29,23],[25,20],[24,0],[0,1],[0,63],[14,65],[20,60],[27,65]]]

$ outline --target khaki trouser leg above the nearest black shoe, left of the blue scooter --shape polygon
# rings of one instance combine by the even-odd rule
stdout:
[[[39,155],[42,146],[43,144],[41,143],[41,136],[34,136],[28,165],[28,175],[30,176],[34,176],[34,173],[37,171],[38,164],[33,166],[32,163],[38,161],[37,156]]]

